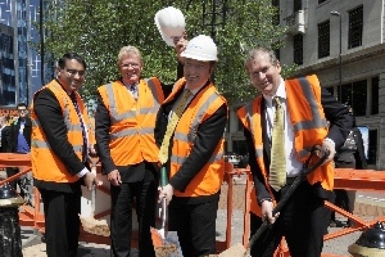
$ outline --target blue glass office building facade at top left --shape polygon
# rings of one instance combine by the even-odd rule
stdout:
[[[40,0],[0,0],[1,107],[29,104],[42,87],[40,52],[28,43],[40,41],[39,8]]]

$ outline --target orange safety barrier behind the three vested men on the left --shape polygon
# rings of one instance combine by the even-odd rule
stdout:
[[[17,174],[0,180],[0,187],[5,183],[10,182],[18,177],[21,177],[28,172],[31,172],[31,157],[29,154],[15,154],[15,153],[0,153],[0,168],[8,167],[17,167],[20,169],[20,172]],[[97,173],[101,173],[101,165],[97,165]],[[233,214],[233,186],[234,186],[234,176],[239,176],[241,173],[239,170],[235,170],[233,164],[226,162],[225,163],[225,176],[224,181],[228,184],[227,192],[227,222],[226,222],[226,235],[225,241],[217,241],[216,247],[218,252],[222,252],[225,249],[230,247],[231,242],[231,227],[232,227],[232,214]],[[107,187],[101,185],[97,189],[107,195],[110,195],[110,191]],[[41,197],[38,190],[34,187],[34,207],[23,205],[19,212],[20,225],[29,226],[37,229],[41,232],[44,232],[44,214],[41,211]],[[100,213],[95,213],[95,218],[101,218],[106,215],[109,215],[111,212],[110,209],[104,210]],[[138,233],[134,232],[132,235],[131,245],[132,247],[138,247]],[[105,236],[99,236],[90,234],[83,230],[81,227],[81,233],[79,240],[88,243],[98,243],[98,244],[109,244],[110,238]]]

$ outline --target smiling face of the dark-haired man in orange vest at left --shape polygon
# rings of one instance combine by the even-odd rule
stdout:
[[[68,92],[79,90],[85,80],[85,67],[75,59],[66,60],[63,68],[57,67],[57,79]]]

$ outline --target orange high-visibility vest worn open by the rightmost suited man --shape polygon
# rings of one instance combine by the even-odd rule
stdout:
[[[285,81],[287,111],[290,113],[291,123],[294,129],[294,148],[300,160],[305,161],[310,155],[314,145],[321,145],[328,134],[323,107],[321,105],[321,87],[317,76],[307,76]],[[249,102],[237,112],[244,126],[253,135],[257,163],[262,171],[265,185],[268,185],[268,174],[263,161],[263,141],[261,130],[261,116],[264,115],[261,109],[262,96]],[[250,156],[253,158],[253,156]],[[312,163],[312,162],[311,162]],[[268,163],[267,163],[268,164]],[[249,174],[251,175],[251,174]],[[307,180],[313,185],[321,182],[325,190],[333,190],[334,165],[333,161],[316,169],[307,175]],[[272,198],[273,194],[267,187]],[[252,192],[253,213],[260,215],[255,189]]]

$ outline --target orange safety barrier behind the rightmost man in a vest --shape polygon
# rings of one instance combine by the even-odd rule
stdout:
[[[249,169],[236,169],[238,173],[248,174]],[[354,170],[354,169],[335,169],[334,177],[335,189],[348,189],[348,190],[360,190],[360,191],[385,191],[385,171],[375,170]],[[247,246],[250,228],[249,224],[249,212],[250,212],[250,193],[253,190],[253,181],[249,176],[246,176],[246,188],[245,188],[245,212],[244,212],[244,226],[243,226],[243,246]],[[341,214],[344,217],[348,217],[355,222],[354,227],[341,228],[333,233],[328,233],[324,236],[324,241],[332,240],[336,237],[347,235],[356,231],[362,231],[377,222],[385,221],[385,216],[380,216],[372,219],[371,221],[364,221],[357,215],[349,213],[329,201],[324,202],[325,206],[329,209]],[[275,257],[287,257],[290,256],[287,247],[285,246],[284,239],[282,240],[279,248],[275,252]],[[322,257],[341,257],[343,255],[322,253]]]

